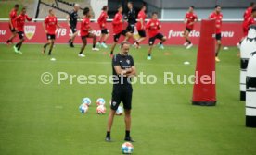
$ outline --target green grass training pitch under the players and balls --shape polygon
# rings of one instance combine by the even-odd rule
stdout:
[[[111,75],[109,49],[78,57],[80,45],[56,45],[50,57],[41,54],[42,45],[24,44],[23,54],[0,45],[0,154],[76,155],[121,154],[123,115],[116,116],[112,143],[104,141],[108,114],[96,114],[96,99],[109,100],[111,84],[78,84],[73,80],[57,84],[57,72],[70,75]],[[115,52],[117,53],[118,48]],[[157,84],[134,84],[132,137],[134,154],[252,155],[256,154],[256,130],[245,127],[245,103],[239,101],[239,58],[237,48],[221,51],[216,66],[217,106],[191,105],[193,85],[164,85],[163,72],[193,75],[197,48],[166,46],[153,51],[147,61],[147,46],[131,48],[138,72],[158,77]],[[189,61],[190,65],[184,65]],[[44,72],[54,75],[45,85]],[[89,113],[78,107],[83,97],[93,104]]]

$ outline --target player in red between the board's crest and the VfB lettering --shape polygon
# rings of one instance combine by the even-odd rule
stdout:
[[[43,47],[43,54],[45,54],[46,47],[50,45],[48,55],[52,54],[53,45],[55,42],[55,31],[60,26],[58,25],[58,19],[56,18],[53,9],[49,9],[49,15],[45,18],[43,22],[43,28],[46,33],[47,43]]]

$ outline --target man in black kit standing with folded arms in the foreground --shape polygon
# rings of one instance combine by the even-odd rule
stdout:
[[[113,91],[111,99],[111,111],[109,113],[108,127],[106,141],[110,142],[110,131],[113,124],[113,119],[120,105],[121,101],[124,108],[124,121],[125,121],[125,141],[134,142],[130,136],[131,131],[131,109],[132,109],[132,94],[133,88],[131,85],[131,78],[136,75],[136,69],[134,66],[134,59],[129,54],[130,44],[129,42],[121,43],[120,54],[115,54],[112,59],[113,69]]]

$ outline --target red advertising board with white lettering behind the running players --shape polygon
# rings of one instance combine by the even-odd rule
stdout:
[[[70,38],[70,28],[66,22],[60,22],[61,28],[56,30],[56,43],[67,43]],[[181,45],[185,42],[182,37],[182,33],[185,29],[183,22],[162,22],[162,28],[160,32],[167,37],[165,44],[169,45]],[[91,23],[94,29],[93,33],[96,36],[100,35],[100,30],[97,23]],[[110,32],[110,37],[107,43],[113,42],[112,37],[112,25],[108,23],[108,29]],[[198,38],[200,36],[200,22],[195,25],[195,30],[190,33],[191,40],[194,44],[198,44]],[[78,24],[78,29],[80,30],[80,24]],[[24,32],[26,36],[26,43],[44,43],[46,42],[45,31],[43,30],[42,22],[26,22],[24,27]],[[8,27],[8,22],[0,22],[0,42],[6,42],[11,32]],[[235,46],[242,37],[242,23],[241,22],[224,22],[222,28],[223,44],[225,46]],[[15,41],[18,40],[18,36]],[[122,40],[122,39],[121,39]],[[75,43],[81,43],[81,38],[77,37]],[[88,39],[91,43],[91,39]],[[142,44],[147,44],[147,40],[142,42]]]

